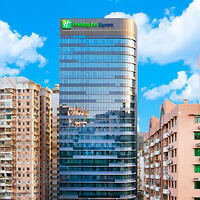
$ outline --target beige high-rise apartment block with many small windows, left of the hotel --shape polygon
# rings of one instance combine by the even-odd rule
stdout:
[[[0,78],[0,199],[49,199],[49,89]]]

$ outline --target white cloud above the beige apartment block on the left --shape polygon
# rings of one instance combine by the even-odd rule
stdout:
[[[37,52],[46,38],[32,33],[21,36],[0,20],[0,76],[17,75],[26,65],[39,62],[43,67],[46,59]]]

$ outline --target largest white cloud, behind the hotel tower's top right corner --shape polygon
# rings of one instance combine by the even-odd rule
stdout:
[[[145,13],[133,15],[112,12],[106,18],[132,18],[138,27],[139,61],[151,60],[161,65],[183,61],[197,66],[200,53],[200,0],[194,0],[180,16],[165,10],[161,19],[150,20]]]

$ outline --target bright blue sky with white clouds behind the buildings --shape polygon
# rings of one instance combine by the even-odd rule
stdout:
[[[125,17],[138,30],[138,126],[165,99],[199,101],[200,0],[2,0],[0,77],[59,83],[59,19]]]

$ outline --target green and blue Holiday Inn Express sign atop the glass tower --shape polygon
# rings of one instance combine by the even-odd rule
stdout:
[[[71,29],[72,27],[113,27],[114,24],[108,24],[108,23],[94,23],[91,22],[72,22],[72,20],[69,19],[63,19],[62,20],[62,29]]]

